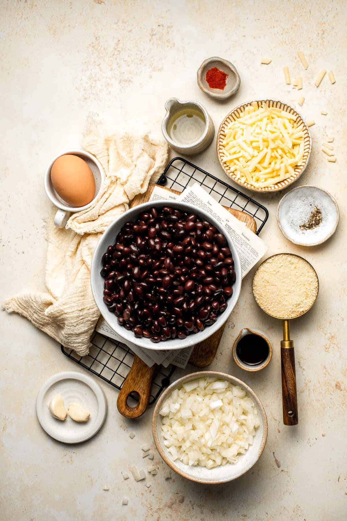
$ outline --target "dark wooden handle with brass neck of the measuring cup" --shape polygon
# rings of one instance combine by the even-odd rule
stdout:
[[[298,425],[297,377],[295,376],[294,343],[290,340],[289,320],[283,321],[281,341],[283,423]]]

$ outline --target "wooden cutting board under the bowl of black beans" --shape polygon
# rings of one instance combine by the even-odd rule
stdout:
[[[144,194],[136,195],[132,200],[130,207],[133,208],[139,204],[147,203],[150,199],[153,189],[156,186],[159,185],[149,183],[147,191]],[[181,193],[170,188],[160,188],[175,194]],[[230,214],[234,215],[238,220],[245,222],[247,228],[255,233],[256,222],[251,215],[246,214],[246,212],[240,212],[240,210],[235,210],[234,208],[228,208],[227,206],[224,206],[224,208],[228,210]],[[189,358],[189,364],[203,368],[209,366],[213,362],[225,326],[226,323],[218,331],[213,333],[207,340],[199,342],[195,345]],[[137,355],[134,355],[133,365],[123,383],[117,400],[118,411],[126,418],[138,418],[146,411],[148,402],[150,400],[152,381],[156,373],[156,368],[156,364],[152,367],[148,367],[145,362],[142,361],[142,359],[140,359]],[[133,392],[139,395],[139,399],[135,407],[130,407],[127,404],[127,399],[128,396]]]

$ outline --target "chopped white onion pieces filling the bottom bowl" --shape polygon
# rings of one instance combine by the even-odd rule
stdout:
[[[246,391],[214,377],[188,381],[175,389],[159,414],[172,460],[208,469],[235,464],[253,444],[260,425]]]

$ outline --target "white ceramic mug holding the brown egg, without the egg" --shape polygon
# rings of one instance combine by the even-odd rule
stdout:
[[[66,201],[63,201],[61,199],[61,197],[59,197],[59,195],[55,191],[53,184],[52,184],[52,180],[50,179],[50,170],[52,169],[52,166],[53,166],[53,163],[55,162],[55,160],[58,159],[58,157],[60,157],[60,156],[65,156],[68,154],[73,154],[75,156],[81,157],[81,159],[83,159],[87,163],[89,168],[92,170],[92,173],[94,176],[94,180],[95,180],[94,198],[93,198],[93,201],[91,201],[90,203],[88,203],[84,206],[79,206],[79,207],[71,206]],[[48,168],[46,170],[45,178],[44,178],[44,185],[45,185],[45,190],[46,190],[47,196],[52,201],[52,203],[59,208],[58,212],[56,213],[56,215],[54,217],[55,226],[57,226],[58,228],[64,228],[71,213],[81,212],[81,210],[86,210],[87,208],[92,206],[92,204],[95,202],[101,188],[104,185],[104,181],[105,181],[105,172],[104,172],[104,168],[102,168],[101,163],[97,160],[96,157],[94,157],[92,154],[89,154],[89,152],[86,152],[85,150],[68,150],[67,152],[62,152],[61,154],[58,154],[56,157],[54,157],[52,159],[52,162],[50,162],[50,164],[48,165]]]

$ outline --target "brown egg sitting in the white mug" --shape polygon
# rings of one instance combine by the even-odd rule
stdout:
[[[58,157],[50,170],[50,179],[57,194],[71,206],[84,206],[94,199],[93,172],[81,157]]]

